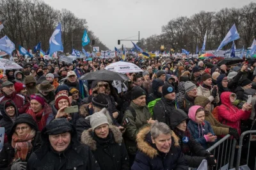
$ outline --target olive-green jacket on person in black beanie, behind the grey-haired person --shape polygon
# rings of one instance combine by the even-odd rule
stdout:
[[[132,112],[130,110],[126,110],[124,113],[123,121],[128,118],[130,123],[127,124],[124,133],[124,142],[128,153],[135,155],[137,151],[136,135],[140,131],[140,128],[148,125],[147,120],[151,118],[151,114],[148,111],[147,105],[144,107],[139,107],[138,105],[135,105],[133,102],[131,102],[130,106],[136,112],[136,121],[134,121]]]

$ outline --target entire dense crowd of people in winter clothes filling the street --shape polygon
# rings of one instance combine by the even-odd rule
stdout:
[[[0,74],[0,169],[188,169],[255,119],[256,60],[129,57],[143,72],[81,80],[119,58],[73,63],[20,57]],[[252,103],[248,96],[252,95]],[[66,108],[77,106],[77,112]]]

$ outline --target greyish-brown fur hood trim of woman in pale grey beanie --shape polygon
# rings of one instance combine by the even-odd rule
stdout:
[[[111,132],[113,133],[115,143],[121,144],[123,141],[123,137],[118,127],[109,125],[109,133]],[[92,128],[89,128],[88,130],[84,130],[84,132],[81,135],[81,142],[83,144],[88,145],[92,151],[95,151],[97,150],[97,144],[91,134],[92,134]]]

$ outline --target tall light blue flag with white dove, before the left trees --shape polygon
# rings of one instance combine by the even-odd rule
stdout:
[[[56,51],[63,51],[63,45],[61,42],[61,23],[58,24],[55,31],[52,33],[52,36],[49,40],[50,44],[50,56]]]

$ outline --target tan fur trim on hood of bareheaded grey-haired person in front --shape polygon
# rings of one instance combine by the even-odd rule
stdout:
[[[150,143],[148,143],[146,137],[148,135],[148,133],[150,132],[150,127],[144,127],[140,130],[140,132],[138,132],[137,134],[137,146],[138,146],[138,150],[140,150],[141,152],[145,153],[148,157],[150,158],[154,158],[158,155],[158,151],[156,150],[156,148],[152,147],[152,145],[150,143],[152,143],[151,139],[150,139]],[[172,147],[179,147],[179,137],[172,131],[172,146],[171,146],[171,150]]]

